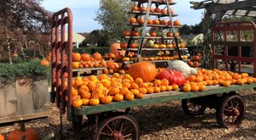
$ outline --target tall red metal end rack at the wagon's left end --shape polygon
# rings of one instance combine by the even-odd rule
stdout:
[[[67,26],[67,38],[65,36]],[[63,8],[52,15],[51,27],[51,92],[56,93],[56,104],[62,107],[71,107],[72,96],[72,49],[73,49],[73,14],[69,8]],[[66,59],[67,53],[67,59]],[[66,64],[67,63],[67,64]],[[68,73],[67,81],[64,73]],[[65,89],[65,82],[68,87]],[[65,104],[65,97],[68,96],[68,104]]]

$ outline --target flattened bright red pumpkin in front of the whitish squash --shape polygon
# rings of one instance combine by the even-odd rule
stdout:
[[[170,85],[177,84],[177,86],[182,86],[185,83],[185,77],[177,70],[163,70],[158,74],[157,78],[160,80],[166,78]]]

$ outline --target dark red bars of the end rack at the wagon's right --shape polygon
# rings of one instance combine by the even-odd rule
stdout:
[[[237,34],[237,43],[234,44],[227,40],[229,33],[228,31],[234,31]],[[241,40],[241,31],[253,31],[253,43],[242,42]],[[224,56],[220,56],[216,53],[216,48],[221,41],[216,39],[217,33],[224,32]],[[253,58],[249,56],[242,56],[241,50],[244,44],[251,44],[250,47],[253,48]],[[237,46],[238,54],[237,56],[231,56],[229,52],[229,47]],[[253,62],[253,74],[256,76],[256,25],[253,21],[235,21],[235,22],[220,22],[212,27],[212,58],[213,58],[213,67],[216,68],[217,59],[224,60],[224,65],[226,70],[228,70],[228,61],[236,60],[238,62],[238,70],[241,72],[241,62]]]

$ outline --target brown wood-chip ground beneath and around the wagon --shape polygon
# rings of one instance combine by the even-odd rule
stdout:
[[[241,126],[236,129],[219,128],[215,120],[215,110],[207,109],[205,115],[191,117],[184,115],[180,101],[165,104],[151,104],[131,109],[131,115],[137,119],[143,140],[169,139],[256,139],[256,92],[253,90],[239,92],[246,101],[246,117]],[[72,132],[72,124],[63,118],[63,135],[65,139],[88,139],[85,129],[79,133]],[[10,123],[2,125],[0,132],[5,136],[18,125]],[[59,112],[55,104],[51,104],[48,118],[30,120],[26,126],[36,129],[40,137],[50,132],[59,139]]]

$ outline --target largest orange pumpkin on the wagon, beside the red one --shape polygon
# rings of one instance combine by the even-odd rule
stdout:
[[[157,75],[154,64],[149,62],[139,62],[131,64],[128,73],[134,78],[142,78],[144,82],[153,81]]]

